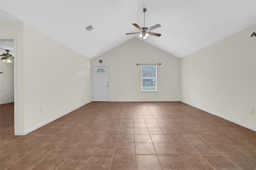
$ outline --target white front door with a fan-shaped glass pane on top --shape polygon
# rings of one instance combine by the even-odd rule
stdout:
[[[108,102],[108,66],[92,67],[92,101]]]

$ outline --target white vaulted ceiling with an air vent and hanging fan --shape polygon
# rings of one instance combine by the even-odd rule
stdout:
[[[90,59],[138,37],[125,33],[143,27],[143,8],[146,27],[162,25],[152,31],[161,37],[144,41],[178,58],[256,23],[256,0],[1,0],[0,8],[1,22],[24,21]]]

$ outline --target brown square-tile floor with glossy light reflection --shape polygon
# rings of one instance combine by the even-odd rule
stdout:
[[[91,102],[14,136],[1,105],[1,170],[256,170],[256,132],[182,102]]]

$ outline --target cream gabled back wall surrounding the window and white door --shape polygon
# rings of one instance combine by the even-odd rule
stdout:
[[[137,63],[162,63],[157,66],[158,92],[140,92]],[[92,59],[92,66],[109,66],[110,101],[180,101],[180,59],[137,38]]]

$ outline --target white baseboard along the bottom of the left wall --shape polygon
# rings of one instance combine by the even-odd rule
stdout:
[[[58,119],[58,118],[64,116],[64,115],[66,115],[66,114],[68,114],[68,113],[74,111],[74,110],[76,110],[76,109],[78,109],[79,107],[84,106],[84,105],[86,105],[86,103],[84,103],[84,104],[82,104],[82,105],[80,105],[80,106],[74,107],[73,109],[70,109],[69,111],[66,111],[66,112],[64,112],[64,113],[61,113],[61,114],[59,114],[59,115],[56,115],[55,117],[52,117],[52,118],[50,118],[50,119],[48,119],[48,120],[46,120],[46,121],[44,121],[44,122],[42,122],[42,123],[39,123],[38,125],[35,125],[35,126],[29,128],[29,129],[25,130],[25,131],[17,132],[17,135],[18,135],[18,136],[19,136],[19,135],[26,135],[26,134],[28,134],[28,133],[30,133],[30,132],[32,132],[32,131],[34,131],[34,130],[36,130],[36,129],[38,129],[38,128],[40,128],[40,127],[42,127],[42,126],[44,126],[44,125],[46,125],[46,124],[48,124],[48,123],[50,123],[50,122],[52,122],[52,121],[54,121],[54,120],[56,120],[56,119]]]

